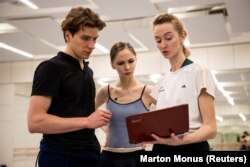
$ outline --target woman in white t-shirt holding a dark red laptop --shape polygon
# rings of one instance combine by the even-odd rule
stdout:
[[[212,75],[188,58],[190,52],[184,46],[187,33],[176,16],[157,15],[153,33],[158,49],[171,66],[151,92],[157,100],[156,109],[188,104],[190,125],[189,132],[182,137],[174,133],[169,138],[152,134],[156,140],[153,151],[210,150],[207,140],[216,135]]]

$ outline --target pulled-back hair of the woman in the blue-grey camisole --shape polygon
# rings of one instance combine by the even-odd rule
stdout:
[[[117,56],[117,54],[120,51],[124,50],[124,49],[130,50],[136,56],[135,49],[129,43],[117,42],[111,47],[111,50],[110,50],[110,60],[111,60],[111,62],[113,62],[115,57]]]

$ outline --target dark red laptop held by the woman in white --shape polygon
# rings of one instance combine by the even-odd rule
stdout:
[[[126,125],[131,144],[155,140],[152,133],[160,137],[183,134],[189,130],[188,104],[128,116]]]

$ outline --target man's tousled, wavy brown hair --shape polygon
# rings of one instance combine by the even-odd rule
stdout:
[[[65,20],[61,24],[61,29],[63,33],[68,30],[72,36],[74,36],[77,31],[84,27],[98,28],[99,30],[102,30],[105,26],[106,23],[91,9],[76,7],[69,11]],[[66,41],[65,36],[64,40]]]

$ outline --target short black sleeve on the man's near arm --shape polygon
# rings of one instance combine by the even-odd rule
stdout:
[[[42,62],[36,69],[31,95],[57,97],[60,88],[61,72],[50,61]]]

